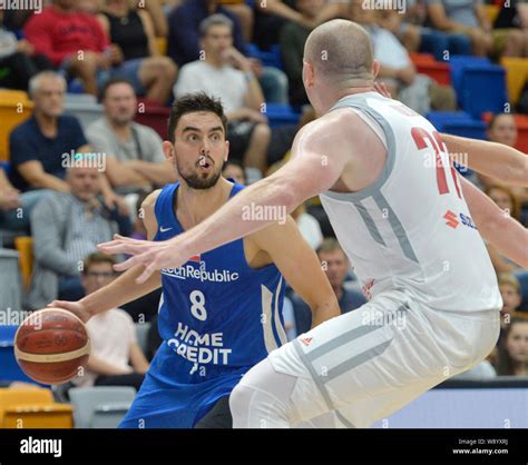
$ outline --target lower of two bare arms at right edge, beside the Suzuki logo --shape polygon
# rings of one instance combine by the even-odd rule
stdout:
[[[459,177],[480,235],[502,255],[528,268],[528,229],[502,211],[486,194]]]

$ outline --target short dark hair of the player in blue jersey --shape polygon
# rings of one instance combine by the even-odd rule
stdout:
[[[215,113],[222,121],[224,135],[227,137],[227,117],[219,99],[205,92],[186,93],[174,101],[168,117],[168,140],[174,144],[174,132],[179,119],[186,113],[206,111]]]

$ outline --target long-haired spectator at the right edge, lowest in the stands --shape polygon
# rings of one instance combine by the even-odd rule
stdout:
[[[528,319],[512,318],[499,345],[499,376],[528,376]]]

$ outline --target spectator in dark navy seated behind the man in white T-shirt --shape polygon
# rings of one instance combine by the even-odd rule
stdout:
[[[221,13],[233,21],[233,43],[241,52],[246,52],[238,18],[218,0],[186,0],[173,10],[168,18],[168,56],[182,68],[184,65],[203,58],[199,24],[211,14]],[[260,80],[266,101],[287,103],[286,75],[274,67],[263,67],[260,60],[250,59],[252,70]]]

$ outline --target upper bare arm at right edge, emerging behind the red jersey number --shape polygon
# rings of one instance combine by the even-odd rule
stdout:
[[[441,135],[452,161],[508,185],[528,187],[528,156],[503,144]]]

